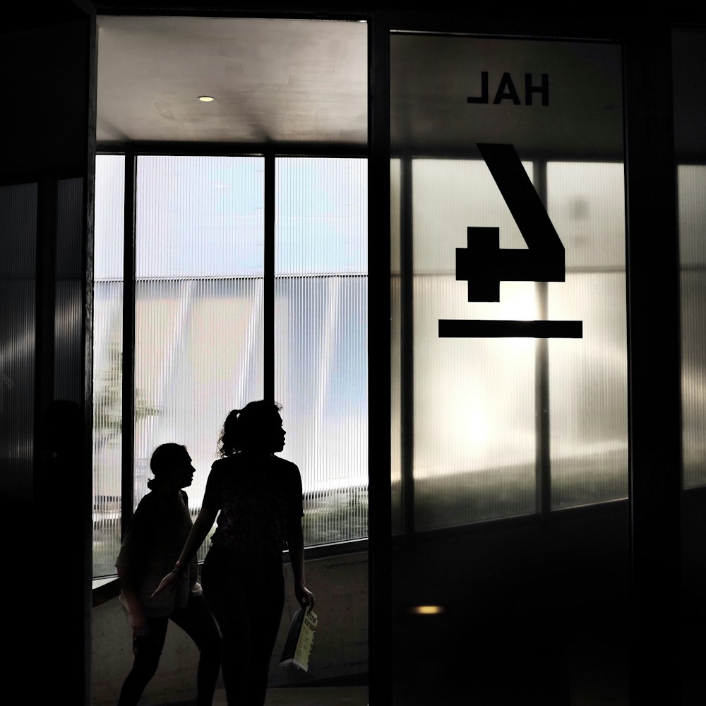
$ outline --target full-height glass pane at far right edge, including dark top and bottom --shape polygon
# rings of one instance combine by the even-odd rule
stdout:
[[[683,659],[678,686],[686,705],[703,700],[706,656],[701,618],[706,592],[706,28],[673,28],[671,45],[686,489],[681,497]]]

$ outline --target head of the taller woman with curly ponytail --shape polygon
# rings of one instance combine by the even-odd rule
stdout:
[[[285,448],[285,430],[279,402],[256,400],[243,409],[233,409],[225,418],[218,440],[220,455],[237,451],[275,453]]]

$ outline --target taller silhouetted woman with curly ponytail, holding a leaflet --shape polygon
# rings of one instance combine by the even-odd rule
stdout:
[[[282,550],[289,549],[294,592],[313,608],[304,585],[299,468],[275,453],[285,446],[280,405],[249,402],[225,420],[220,455],[206,481],[201,512],[172,573],[171,587],[217,528],[201,570],[203,592],[223,638],[222,674],[229,706],[262,706],[270,657],[285,602]]]

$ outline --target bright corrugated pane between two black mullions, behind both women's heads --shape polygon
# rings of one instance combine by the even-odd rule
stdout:
[[[196,515],[227,413],[263,397],[263,160],[139,157],[136,222],[134,501],[181,443]]]

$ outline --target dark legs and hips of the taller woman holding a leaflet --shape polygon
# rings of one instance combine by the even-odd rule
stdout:
[[[263,706],[270,657],[280,628],[282,559],[237,561],[210,549],[203,592],[223,638],[223,683],[229,706]]]

